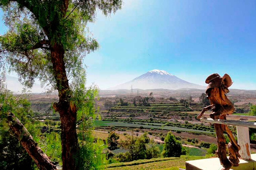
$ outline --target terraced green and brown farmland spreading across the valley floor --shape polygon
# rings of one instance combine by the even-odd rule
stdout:
[[[186,160],[202,159],[209,156],[203,143],[216,144],[215,131],[212,125],[196,119],[204,107],[197,98],[170,100],[164,97],[148,96],[148,101],[145,102],[146,97],[122,96],[95,100],[100,116],[94,121],[94,130],[92,131],[94,138],[107,141],[109,133],[114,131],[119,136],[118,142],[122,142],[127,140],[128,136],[136,138],[146,132],[161,153],[164,138],[171,131],[182,143],[186,155],[181,155],[180,158],[158,157],[132,162],[109,160],[106,169],[115,170],[120,169],[121,166],[122,169],[178,170],[185,167]],[[47,98],[40,97],[32,100],[32,108],[36,108],[35,119],[40,120],[37,123],[38,128],[48,130],[48,127],[51,127],[50,130],[59,132],[59,115],[51,111],[51,103],[56,100],[56,97],[49,101]],[[110,103],[110,106],[107,107],[106,102]],[[235,114],[248,115],[245,113],[248,106],[248,103],[235,105],[237,111],[241,111],[241,113],[236,112]],[[231,130],[235,132],[235,128],[231,127]],[[148,146],[149,144],[146,144],[146,147]],[[117,149],[110,152],[113,155],[118,155],[127,150],[118,146]]]

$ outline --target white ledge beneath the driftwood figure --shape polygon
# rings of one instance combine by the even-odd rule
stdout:
[[[256,169],[256,154],[251,154],[251,161],[240,159],[238,167],[230,170],[253,170]],[[186,161],[186,170],[221,170],[219,158],[199,159]]]

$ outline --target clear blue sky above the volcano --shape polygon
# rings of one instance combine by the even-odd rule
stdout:
[[[228,73],[231,88],[256,90],[255,0],[124,0],[88,28],[100,48],[84,60],[87,85],[107,89],[160,69],[199,85]]]

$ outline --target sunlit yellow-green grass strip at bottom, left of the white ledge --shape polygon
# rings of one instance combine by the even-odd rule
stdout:
[[[109,167],[108,170],[133,170],[133,169],[143,169],[143,170],[179,170],[179,168],[185,168],[185,162],[188,160],[204,159],[203,156],[188,156],[181,155],[180,158],[171,160],[161,160],[163,158],[157,158],[159,161],[148,162],[137,165],[126,165],[120,167]],[[151,160],[151,159],[149,159]],[[143,160],[138,160],[143,162]],[[129,164],[129,162],[127,162]],[[111,165],[111,164],[110,164]]]

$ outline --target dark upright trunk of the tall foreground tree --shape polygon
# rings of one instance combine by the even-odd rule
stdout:
[[[79,145],[76,134],[76,107],[71,99],[71,91],[64,63],[64,49],[61,44],[54,44],[51,48],[51,58],[54,76],[59,92],[59,102],[54,103],[53,108],[60,114],[61,121],[61,146],[62,146],[62,169],[75,170],[75,157]]]

